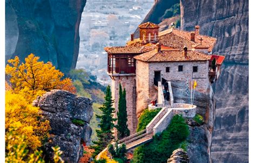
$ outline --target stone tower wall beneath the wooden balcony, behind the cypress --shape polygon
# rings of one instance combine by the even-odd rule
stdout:
[[[133,98],[133,87],[136,87],[135,84],[135,76],[114,76],[114,80],[112,80],[112,97],[114,100],[113,108],[116,109],[116,113],[114,117],[117,117],[118,111],[118,101],[119,101],[119,83],[122,85],[122,89],[126,90],[126,111],[127,111],[127,119],[128,119],[128,128],[130,133],[133,134],[136,132],[137,127],[137,117],[136,117],[136,108],[133,105],[136,103]]]

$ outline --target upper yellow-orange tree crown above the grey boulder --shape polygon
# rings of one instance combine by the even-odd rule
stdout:
[[[14,91],[17,92],[24,88],[36,91],[63,89],[76,93],[71,79],[61,80],[64,74],[55,69],[51,62],[44,63],[38,60],[39,57],[33,54],[25,58],[25,63],[20,63],[18,56],[8,60],[9,64],[5,67],[5,74],[8,76]]]

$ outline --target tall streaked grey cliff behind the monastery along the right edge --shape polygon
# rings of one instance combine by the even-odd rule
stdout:
[[[181,0],[181,26],[217,38],[215,54],[225,55],[214,85],[217,101],[213,162],[248,162],[248,1]]]

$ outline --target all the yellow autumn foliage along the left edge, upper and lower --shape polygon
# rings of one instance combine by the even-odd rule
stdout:
[[[76,93],[71,79],[62,79],[64,74],[52,66],[51,62],[44,63],[38,60],[39,57],[30,54],[25,58],[25,62],[21,63],[16,56],[15,59],[8,60],[8,65],[5,67],[8,81],[5,83],[5,144],[7,152],[5,161],[7,162],[8,158],[12,161],[13,159],[28,161],[28,159],[24,160],[28,158],[24,153],[30,155],[31,158],[34,157],[36,153],[38,154],[38,148],[43,145],[43,141],[49,136],[49,121],[42,119],[39,115],[39,108],[33,107],[32,101],[52,89]],[[10,133],[14,132],[14,129],[15,134],[11,136]],[[24,141],[24,144],[21,144],[19,139]],[[21,149],[24,153],[21,153]],[[37,157],[39,157],[38,155]]]

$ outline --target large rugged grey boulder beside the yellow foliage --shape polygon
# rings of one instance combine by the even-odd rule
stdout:
[[[41,109],[44,119],[50,121],[51,131],[44,148],[50,160],[53,155],[51,147],[59,146],[63,151],[65,162],[78,162],[83,155],[83,143],[90,141],[90,119],[93,115],[92,101],[64,90],[51,90],[33,101]],[[82,124],[78,124],[75,121]]]

